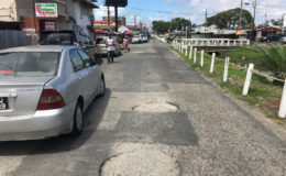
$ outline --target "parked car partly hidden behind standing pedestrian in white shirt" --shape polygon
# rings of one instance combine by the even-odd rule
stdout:
[[[107,55],[108,54],[107,45],[106,45],[107,38],[108,38],[108,36],[102,36],[102,37],[98,37],[96,40],[96,52],[97,52],[97,54],[99,54],[99,55]],[[116,44],[117,44],[114,55],[120,56],[122,54],[121,53],[121,50],[122,50],[121,44],[118,42],[117,37],[113,37],[113,40],[116,41]]]

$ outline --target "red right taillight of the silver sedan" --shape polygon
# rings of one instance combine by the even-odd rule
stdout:
[[[44,89],[36,110],[59,109],[65,106],[63,97],[55,89]]]

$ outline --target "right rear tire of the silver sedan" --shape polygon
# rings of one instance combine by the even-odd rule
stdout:
[[[72,135],[79,136],[82,133],[82,131],[84,131],[84,112],[82,112],[82,106],[78,101],[74,114],[74,125],[73,125]]]

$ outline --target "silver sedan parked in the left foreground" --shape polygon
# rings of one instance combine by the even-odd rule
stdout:
[[[75,46],[0,51],[11,70],[0,73],[0,141],[79,135],[84,112],[106,90],[101,63]]]

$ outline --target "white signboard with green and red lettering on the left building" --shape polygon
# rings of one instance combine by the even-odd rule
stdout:
[[[56,3],[35,3],[37,18],[58,18]]]

